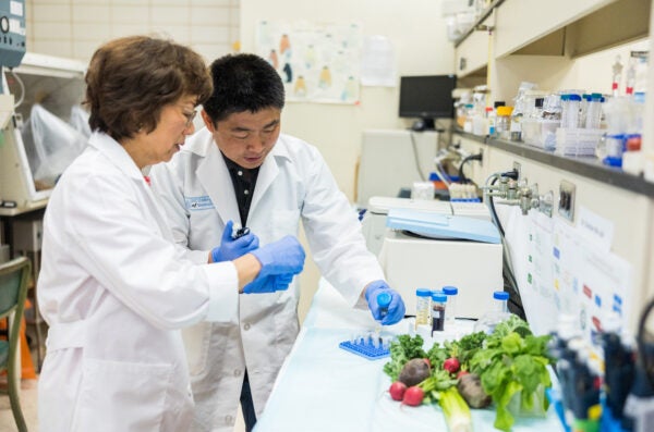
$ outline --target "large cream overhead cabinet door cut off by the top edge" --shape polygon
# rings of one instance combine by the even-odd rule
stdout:
[[[505,0],[497,8],[495,57],[508,55],[616,0]]]

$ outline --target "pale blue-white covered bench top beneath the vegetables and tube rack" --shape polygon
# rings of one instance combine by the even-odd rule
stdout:
[[[409,333],[411,320],[384,328]],[[383,371],[390,357],[368,360],[339,348],[375,328],[370,311],[352,309],[322,280],[298,340],[287,357],[255,432],[447,431],[437,405],[402,406],[390,398]],[[497,431],[495,410],[471,409],[475,432]],[[518,418],[512,431],[562,431],[553,406],[545,418]]]

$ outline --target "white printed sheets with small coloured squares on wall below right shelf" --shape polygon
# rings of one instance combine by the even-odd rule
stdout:
[[[508,221],[507,238],[520,296],[537,334],[557,329],[561,314],[576,318],[598,353],[595,337],[610,317],[629,317],[631,264],[591,242],[579,229],[536,211]]]

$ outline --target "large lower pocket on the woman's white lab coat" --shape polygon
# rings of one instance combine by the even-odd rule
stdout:
[[[171,365],[84,359],[73,431],[158,431]]]

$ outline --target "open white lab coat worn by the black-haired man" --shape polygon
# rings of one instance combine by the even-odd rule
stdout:
[[[193,259],[202,260],[219,244],[227,221],[240,222],[229,171],[206,128],[172,161],[155,166],[150,177],[175,240],[192,249]],[[281,135],[259,169],[246,225],[265,245],[298,235],[300,219],[316,264],[350,305],[358,304],[367,283],[384,279],[318,150]],[[299,332],[299,295],[295,283],[283,292],[242,295],[240,326],[201,323],[183,332],[196,404],[194,430],[232,430],[245,368],[261,415]]]

